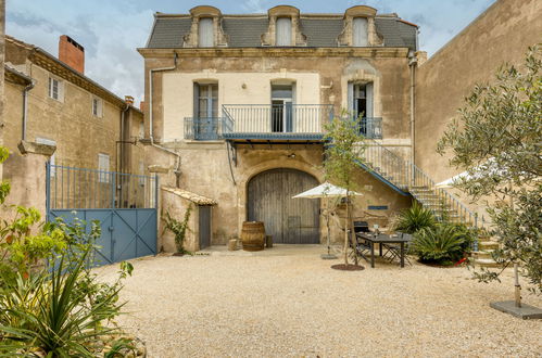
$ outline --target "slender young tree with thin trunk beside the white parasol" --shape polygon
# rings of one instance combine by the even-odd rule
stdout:
[[[324,172],[326,180],[346,190],[346,225],[344,226],[344,265],[348,265],[349,230],[352,230],[352,202],[357,189],[355,180],[358,165],[364,163],[365,138],[360,133],[360,119],[352,119],[343,112],[340,117],[333,118],[326,125]],[[350,235],[352,245],[355,245],[353,235]],[[354,255],[357,265],[357,255]]]

